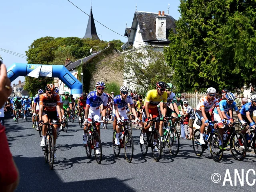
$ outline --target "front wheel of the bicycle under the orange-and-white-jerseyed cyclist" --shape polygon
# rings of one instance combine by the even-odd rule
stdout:
[[[215,162],[219,162],[223,157],[223,140],[219,132],[210,135],[210,153]],[[221,144],[220,144],[221,143]],[[222,149],[220,149],[222,148]]]

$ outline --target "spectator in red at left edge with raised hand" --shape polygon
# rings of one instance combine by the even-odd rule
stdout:
[[[7,77],[6,67],[0,66],[0,107],[4,105],[8,96],[12,93],[12,86]],[[16,189],[19,182],[18,169],[12,158],[8,141],[5,134],[5,127],[0,125],[0,191],[12,192]]]

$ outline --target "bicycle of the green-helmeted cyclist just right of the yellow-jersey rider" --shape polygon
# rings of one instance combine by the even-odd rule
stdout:
[[[172,127],[172,119],[174,118],[178,120],[178,117],[166,117],[166,131],[163,134],[162,144],[163,146],[166,145],[170,149],[170,153],[173,156],[176,156],[180,149],[180,138],[178,136],[177,130]],[[168,126],[168,124],[170,126]]]

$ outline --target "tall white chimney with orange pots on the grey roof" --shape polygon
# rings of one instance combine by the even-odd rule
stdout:
[[[158,11],[158,16],[156,16],[156,38],[157,40],[166,41],[166,16],[164,16],[164,11]]]

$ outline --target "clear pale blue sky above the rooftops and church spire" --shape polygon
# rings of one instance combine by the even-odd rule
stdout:
[[[87,14],[90,14],[90,0],[70,0]],[[131,26],[137,4],[138,11],[167,13],[178,19],[180,13],[178,6],[180,0],[92,0],[92,12],[94,19],[108,26],[112,30],[124,34],[127,26]],[[25,54],[28,46],[37,38],[52,37],[83,37],[86,31],[88,16],[78,10],[68,0],[8,0],[1,2],[0,16],[0,48]],[[108,30],[95,22],[98,34],[102,34],[102,40],[120,39],[126,42],[126,38]],[[99,35],[100,38],[100,35]],[[26,63],[26,59],[2,52],[6,66],[14,62]],[[24,81],[24,77],[14,80]]]

